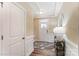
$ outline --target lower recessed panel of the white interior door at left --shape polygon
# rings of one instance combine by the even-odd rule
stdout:
[[[23,40],[10,45],[10,55],[11,56],[24,56],[24,41]]]

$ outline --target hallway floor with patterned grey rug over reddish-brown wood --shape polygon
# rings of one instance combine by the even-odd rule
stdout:
[[[36,41],[31,56],[55,56],[54,43]]]

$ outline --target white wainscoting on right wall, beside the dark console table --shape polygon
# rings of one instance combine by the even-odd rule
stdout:
[[[66,56],[78,56],[78,45],[70,41],[66,35],[64,35],[66,42]]]

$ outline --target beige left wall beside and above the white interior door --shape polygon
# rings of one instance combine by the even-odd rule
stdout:
[[[33,12],[27,2],[18,2],[26,10],[26,35],[33,34]]]

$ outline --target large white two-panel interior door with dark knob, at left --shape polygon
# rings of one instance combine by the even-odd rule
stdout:
[[[12,3],[3,4],[3,55],[24,55],[24,11]]]

